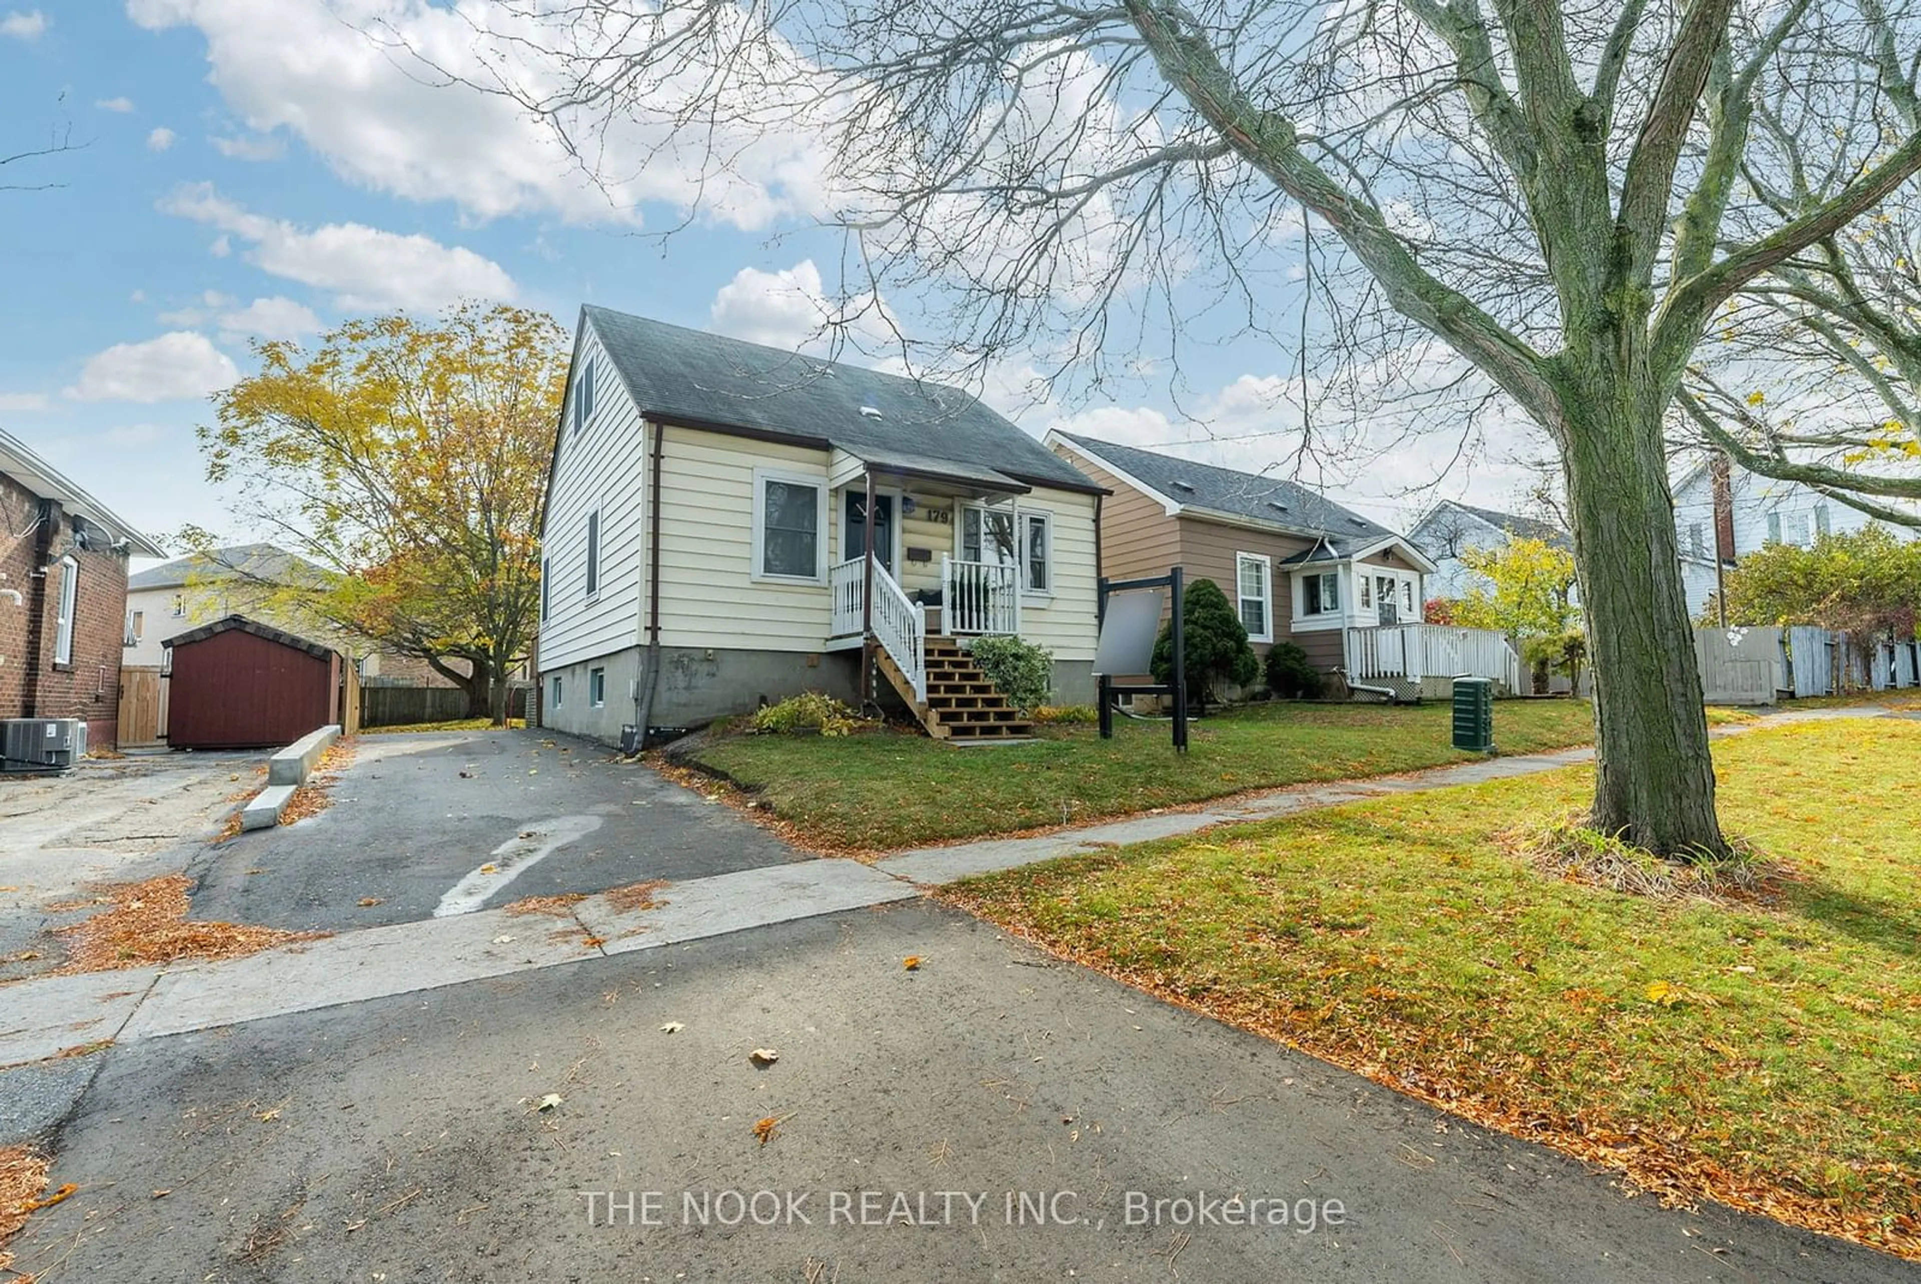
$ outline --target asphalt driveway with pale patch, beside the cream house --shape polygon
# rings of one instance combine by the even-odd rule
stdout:
[[[480,909],[797,859],[605,746],[538,730],[359,736],[332,798],[202,853],[194,917],[348,930],[432,917],[463,880],[457,907]]]

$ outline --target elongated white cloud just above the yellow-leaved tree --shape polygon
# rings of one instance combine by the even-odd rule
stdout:
[[[302,229],[269,219],[227,200],[213,185],[182,186],[159,202],[163,213],[207,223],[221,231],[213,254],[225,254],[227,236],[248,242],[246,258],[261,271],[328,290],[340,308],[432,309],[459,298],[511,300],[519,292],[499,263],[430,236],[384,233],[363,223],[327,223]]]

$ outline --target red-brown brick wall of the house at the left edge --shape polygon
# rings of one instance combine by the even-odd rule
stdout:
[[[127,557],[73,546],[73,521],[58,506],[0,477],[0,717],[77,717],[88,748],[119,734],[119,661],[127,630]],[[23,532],[23,534],[21,534]],[[61,559],[73,557],[73,657],[58,663]],[[40,567],[52,571],[40,575]]]

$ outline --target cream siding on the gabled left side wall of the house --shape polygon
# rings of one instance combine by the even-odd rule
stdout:
[[[626,384],[605,377],[611,365],[592,325],[580,334],[576,384],[586,361],[596,369],[592,431],[561,432],[542,531],[542,671],[636,646],[644,625],[649,431]],[[588,513],[596,511],[599,569],[590,590]]]

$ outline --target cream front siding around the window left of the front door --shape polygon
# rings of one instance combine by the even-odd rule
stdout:
[[[661,463],[661,644],[818,652],[832,625],[824,584],[755,579],[755,473],[828,484],[828,456],[745,436],[667,429]],[[826,506],[820,556],[839,548]]]

